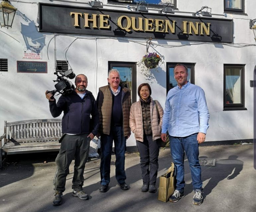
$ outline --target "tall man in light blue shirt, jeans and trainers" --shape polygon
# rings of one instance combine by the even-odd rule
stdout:
[[[201,205],[203,182],[198,147],[205,141],[210,115],[204,90],[191,84],[187,77],[188,68],[183,64],[177,64],[174,67],[174,78],[178,85],[171,89],[166,97],[161,138],[165,142],[168,131],[176,168],[176,189],[170,201],[177,202],[185,196],[184,153],[186,152],[195,191],[193,204]]]

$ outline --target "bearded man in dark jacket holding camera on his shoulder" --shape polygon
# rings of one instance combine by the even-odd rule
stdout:
[[[57,173],[54,181],[53,205],[60,205],[62,193],[65,191],[66,177],[69,165],[75,159],[74,176],[72,180],[73,196],[87,200],[89,196],[83,191],[84,168],[87,162],[90,141],[98,133],[99,112],[95,98],[86,90],[87,77],[79,74],[75,78],[75,90],[67,95],[61,95],[57,104],[52,93],[45,92],[49,100],[51,115],[58,117],[62,111],[62,133],[60,150],[56,157]],[[92,118],[90,118],[90,115]],[[91,120],[91,121],[90,121]],[[91,126],[90,126],[91,125]]]

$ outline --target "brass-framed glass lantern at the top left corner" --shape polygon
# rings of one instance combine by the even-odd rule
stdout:
[[[12,27],[13,19],[17,8],[9,4],[8,0],[2,0],[0,4],[0,25],[2,27]]]

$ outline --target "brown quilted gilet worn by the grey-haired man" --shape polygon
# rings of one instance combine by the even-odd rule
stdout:
[[[121,86],[121,85],[120,85]],[[112,93],[110,86],[99,88],[97,96],[97,106],[100,115],[99,133],[110,134],[110,124],[112,115]],[[123,109],[123,130],[124,136],[130,135],[129,114],[131,106],[131,93],[128,88],[122,87],[122,109]]]

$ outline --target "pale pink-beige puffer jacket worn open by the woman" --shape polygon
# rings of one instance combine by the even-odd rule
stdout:
[[[157,104],[159,113],[155,104]],[[152,138],[153,140],[156,140],[158,138],[161,138],[164,110],[160,103],[157,100],[153,101],[152,98],[150,102],[150,114]],[[131,131],[134,133],[135,139],[137,141],[143,142],[143,115],[140,100],[131,105],[129,124]]]

